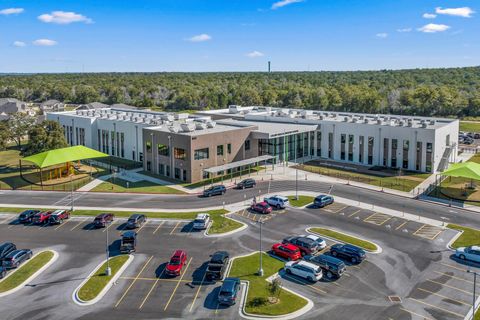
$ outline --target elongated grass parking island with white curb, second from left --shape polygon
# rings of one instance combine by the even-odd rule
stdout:
[[[104,261],[75,289],[73,293],[74,301],[79,305],[91,305],[98,302],[132,260],[133,255],[120,255],[110,258],[111,274],[109,276],[105,273],[107,262]]]

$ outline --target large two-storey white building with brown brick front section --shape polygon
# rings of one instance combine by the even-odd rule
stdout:
[[[240,106],[195,115],[113,107],[47,119],[63,126],[71,145],[186,182],[260,159],[441,171],[455,161],[459,128],[455,119]]]

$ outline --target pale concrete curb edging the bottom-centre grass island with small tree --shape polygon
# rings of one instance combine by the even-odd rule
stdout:
[[[232,265],[233,265],[233,262],[234,262],[235,259],[248,257],[248,256],[254,255],[256,253],[259,253],[259,251],[254,251],[254,252],[247,253],[247,254],[244,254],[244,255],[235,256],[232,259],[230,259],[230,263],[228,265],[227,272],[225,272],[225,274],[230,274],[230,270],[232,268]],[[277,275],[278,275],[278,273],[275,273],[272,276],[268,277],[265,281],[270,282],[271,279],[273,277],[277,276]],[[270,280],[270,281],[268,281],[268,280]],[[312,300],[310,300],[309,298],[307,298],[307,297],[305,297],[305,296],[303,296],[303,295],[301,295],[297,292],[294,292],[294,291],[292,291],[288,288],[283,287],[282,288],[283,290],[288,291],[291,294],[294,294],[296,296],[299,296],[299,297],[305,299],[307,301],[307,304],[303,308],[301,308],[297,311],[294,311],[294,312],[291,312],[291,313],[288,313],[288,314],[284,314],[284,315],[279,315],[279,316],[251,314],[251,313],[248,313],[247,311],[245,311],[246,300],[247,300],[247,296],[248,296],[248,289],[249,289],[250,283],[249,283],[249,281],[242,280],[241,284],[242,284],[244,290],[242,290],[242,295],[240,297],[240,308],[238,309],[238,314],[244,319],[251,319],[251,320],[256,320],[256,319],[281,319],[281,320],[295,319],[295,318],[298,318],[301,315],[307,313],[314,306]]]

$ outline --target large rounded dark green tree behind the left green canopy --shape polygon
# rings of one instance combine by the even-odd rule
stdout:
[[[67,141],[63,134],[63,128],[58,122],[47,120],[33,126],[28,131],[28,145],[22,155],[28,156],[66,146]]]

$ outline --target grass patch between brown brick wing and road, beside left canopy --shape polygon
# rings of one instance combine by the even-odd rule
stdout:
[[[150,181],[139,181],[139,182],[129,182],[127,188],[127,181],[115,178],[115,183],[113,183],[113,178],[110,178],[108,181],[96,186],[91,191],[98,192],[133,192],[133,193],[168,193],[168,194],[182,194],[184,193],[181,190],[170,188],[168,186],[159,185]]]

